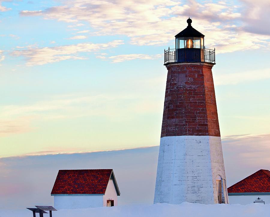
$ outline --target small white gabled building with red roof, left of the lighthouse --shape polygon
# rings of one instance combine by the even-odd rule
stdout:
[[[51,195],[56,209],[117,206],[120,191],[113,169],[59,170]]]

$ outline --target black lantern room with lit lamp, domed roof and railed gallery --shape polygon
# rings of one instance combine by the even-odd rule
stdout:
[[[191,26],[187,19],[187,28],[175,36],[175,49],[164,50],[164,65],[168,63],[207,62],[215,64],[215,50],[205,49],[204,35]]]

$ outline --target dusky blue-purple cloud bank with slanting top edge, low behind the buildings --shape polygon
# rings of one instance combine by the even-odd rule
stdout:
[[[270,169],[269,142],[270,134],[223,139],[227,186],[259,169]],[[0,210],[53,206],[50,193],[59,169],[113,169],[121,193],[119,206],[153,204],[158,151],[159,146],[153,146],[0,158]]]

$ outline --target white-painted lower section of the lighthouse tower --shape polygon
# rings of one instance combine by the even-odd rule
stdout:
[[[218,136],[161,138],[154,203],[218,203],[216,177],[228,203],[221,139]]]

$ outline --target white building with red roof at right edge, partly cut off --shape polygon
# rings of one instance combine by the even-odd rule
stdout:
[[[270,171],[260,169],[228,188],[230,204],[270,204]]]

